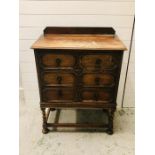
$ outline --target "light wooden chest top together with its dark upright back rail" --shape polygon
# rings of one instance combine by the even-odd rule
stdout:
[[[32,49],[126,50],[113,28],[47,27]]]

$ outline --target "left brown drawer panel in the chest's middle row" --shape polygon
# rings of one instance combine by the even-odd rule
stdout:
[[[73,86],[75,78],[71,73],[44,72],[42,74],[42,83],[43,85]]]

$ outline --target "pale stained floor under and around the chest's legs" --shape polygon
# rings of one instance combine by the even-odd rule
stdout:
[[[21,105],[20,155],[134,155],[134,109],[115,112],[113,135],[92,130],[74,132],[70,128],[44,135],[41,132],[42,115],[39,105]],[[73,110],[61,111],[60,117],[63,116],[63,121],[83,119],[82,115],[77,118]],[[50,117],[52,121],[53,117]],[[100,117],[99,113],[93,116],[97,117]]]

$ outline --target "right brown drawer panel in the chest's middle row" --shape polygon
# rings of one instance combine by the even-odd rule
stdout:
[[[113,86],[115,83],[114,76],[110,73],[103,74],[84,74],[83,75],[84,86]]]

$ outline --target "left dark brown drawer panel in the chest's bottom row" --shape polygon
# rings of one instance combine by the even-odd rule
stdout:
[[[42,98],[45,102],[72,101],[74,91],[68,88],[45,88],[42,91]]]

